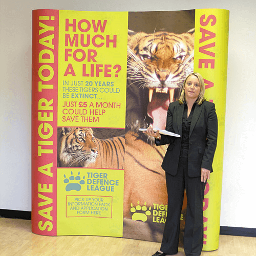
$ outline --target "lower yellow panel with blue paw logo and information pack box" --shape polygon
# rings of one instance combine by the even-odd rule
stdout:
[[[122,237],[123,170],[57,169],[57,236]]]

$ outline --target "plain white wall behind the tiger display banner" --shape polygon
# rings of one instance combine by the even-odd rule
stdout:
[[[31,210],[31,15],[47,8],[230,10],[221,226],[256,228],[255,0],[1,0],[0,209]]]

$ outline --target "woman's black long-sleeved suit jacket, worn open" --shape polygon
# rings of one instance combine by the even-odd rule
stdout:
[[[182,136],[182,117],[184,103],[178,101],[169,104],[166,119],[166,131]],[[188,176],[201,176],[201,168],[212,172],[212,161],[217,145],[218,120],[215,104],[204,101],[196,104],[189,131]],[[155,140],[156,145],[169,144],[163,159],[162,168],[175,176],[178,170],[181,138],[161,135],[161,140]]]

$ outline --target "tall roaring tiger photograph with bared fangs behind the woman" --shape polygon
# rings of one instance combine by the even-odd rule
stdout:
[[[156,146],[140,128],[165,129],[170,102],[179,98],[194,71],[195,11],[129,13],[125,121],[123,237],[161,242],[163,223],[156,205],[167,205],[161,163],[168,145]],[[184,202],[186,200],[184,199]],[[147,221],[134,221],[134,206],[151,209]],[[140,206],[141,205],[141,206]],[[155,211],[154,211],[155,209]],[[181,236],[186,208],[183,206]],[[140,214],[144,214],[140,211]],[[182,241],[182,237],[180,238]],[[182,242],[181,242],[182,243]]]

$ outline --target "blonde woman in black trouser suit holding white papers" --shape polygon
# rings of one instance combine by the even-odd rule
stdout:
[[[203,248],[204,188],[212,172],[218,133],[215,104],[205,100],[204,81],[199,73],[186,77],[179,101],[169,104],[166,131],[180,134],[181,138],[154,132],[152,125],[145,132],[155,137],[156,145],[169,144],[162,163],[168,211],[161,248],[152,256],[178,252],[184,188],[187,196],[184,251],[186,256],[199,256]]]

